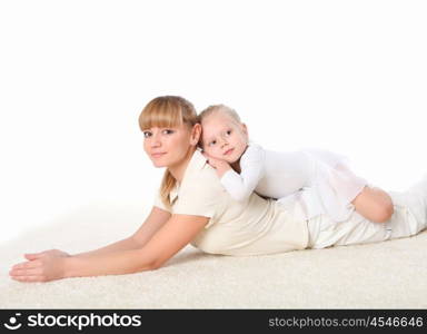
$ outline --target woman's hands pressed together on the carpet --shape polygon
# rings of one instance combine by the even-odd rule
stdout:
[[[28,261],[12,266],[9,275],[19,282],[49,282],[64,278],[63,259],[69,256],[59,249],[24,254]]]

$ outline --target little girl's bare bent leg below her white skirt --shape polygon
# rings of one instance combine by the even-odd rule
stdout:
[[[375,223],[386,223],[394,213],[391,197],[380,188],[366,186],[351,204],[356,212]]]

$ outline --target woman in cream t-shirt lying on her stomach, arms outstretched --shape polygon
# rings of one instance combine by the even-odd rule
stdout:
[[[357,213],[339,224],[330,224],[325,215],[307,220],[298,196],[282,204],[255,193],[244,202],[232,200],[197,149],[201,128],[195,108],[183,98],[151,100],[139,125],[151,161],[167,167],[142,226],[126,239],[88,253],[26,254],[28,261],[10,272],[13,279],[48,282],[156,269],[189,243],[212,254],[260,255],[380,242],[426,228],[426,180],[409,191],[390,194],[394,214],[386,224],[371,223]]]

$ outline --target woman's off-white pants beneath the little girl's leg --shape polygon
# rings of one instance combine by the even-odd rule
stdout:
[[[326,215],[308,219],[308,248],[377,243],[418,234],[427,227],[427,191],[421,190],[390,191],[395,212],[387,223],[373,223],[357,212],[340,223],[331,223]]]

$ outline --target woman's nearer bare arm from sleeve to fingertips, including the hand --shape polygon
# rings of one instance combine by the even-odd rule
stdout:
[[[43,256],[20,268],[17,281],[48,282],[67,277],[122,275],[157,269],[189,244],[208,222],[209,218],[203,216],[172,215],[141,248],[91,257]]]

